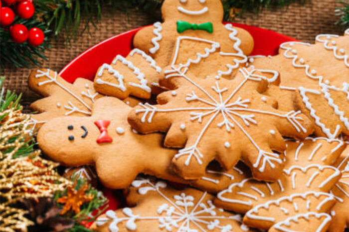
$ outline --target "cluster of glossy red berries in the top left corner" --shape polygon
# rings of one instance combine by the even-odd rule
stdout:
[[[2,2],[6,6],[2,6]],[[28,41],[32,46],[40,45],[45,36],[41,29],[37,27],[28,28],[20,23],[13,24],[15,13],[20,18],[28,19],[34,14],[32,0],[2,0],[0,1],[0,24],[2,27],[9,27],[11,39],[16,43]]]

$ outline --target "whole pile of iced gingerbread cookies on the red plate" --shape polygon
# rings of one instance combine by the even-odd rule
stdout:
[[[221,23],[219,0],[165,0],[162,13],[93,82],[49,69],[29,77],[45,97],[31,104],[43,152],[125,189],[130,208],[92,228],[342,232],[349,29],[248,57],[251,35]]]

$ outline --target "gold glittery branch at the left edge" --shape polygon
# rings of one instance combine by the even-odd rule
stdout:
[[[0,232],[26,231],[33,223],[13,206],[21,199],[52,197],[71,182],[54,170],[58,164],[32,151],[29,115],[14,103],[6,108],[0,109]]]

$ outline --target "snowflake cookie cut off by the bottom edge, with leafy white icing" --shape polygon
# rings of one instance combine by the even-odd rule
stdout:
[[[213,196],[199,190],[174,190],[166,182],[136,180],[127,196],[132,208],[107,211],[91,229],[97,232],[243,232],[241,216],[212,204]]]

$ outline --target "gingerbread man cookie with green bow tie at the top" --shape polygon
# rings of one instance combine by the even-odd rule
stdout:
[[[147,51],[161,67],[194,64],[196,75],[214,70],[219,77],[246,62],[244,54],[252,51],[253,38],[247,31],[222,24],[219,0],[165,0],[162,15],[163,23],[143,28],[134,37],[134,46]]]

